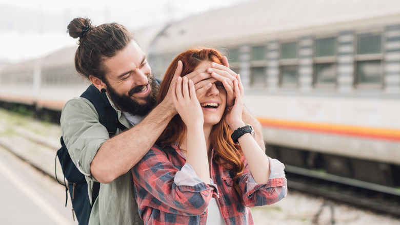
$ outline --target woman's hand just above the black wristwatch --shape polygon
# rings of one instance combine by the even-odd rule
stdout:
[[[235,95],[234,104],[231,107],[227,105],[227,112],[225,115],[225,121],[231,127],[232,130],[242,127],[245,123],[242,120],[243,112],[243,98],[244,98],[244,88],[240,75],[237,74],[235,80],[233,80],[233,89],[227,81],[223,81],[224,87],[228,92],[233,92]]]

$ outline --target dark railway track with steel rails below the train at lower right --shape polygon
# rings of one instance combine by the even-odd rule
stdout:
[[[285,165],[288,187],[400,218],[400,190]]]

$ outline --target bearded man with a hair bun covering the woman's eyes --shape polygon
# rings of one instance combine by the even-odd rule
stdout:
[[[158,85],[146,55],[124,26],[112,23],[94,27],[87,18],[75,18],[68,25],[68,32],[79,37],[76,70],[107,93],[119,122],[130,127],[125,132],[118,129],[117,135],[109,138],[89,100],[75,98],[63,108],[63,138],[78,170],[86,176],[89,196],[93,181],[101,182],[89,224],[143,224],[137,213],[130,169],[176,115],[171,95],[155,106]],[[224,61],[228,66],[226,58]],[[169,92],[181,71],[179,63]],[[197,95],[217,80],[227,80],[233,87],[234,76],[233,71],[221,65],[209,68],[208,72],[187,74]],[[261,125],[246,110],[244,120],[255,127],[256,140],[264,149]]]

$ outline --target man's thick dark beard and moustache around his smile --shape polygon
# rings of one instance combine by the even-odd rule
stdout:
[[[140,92],[147,85],[140,85],[132,88],[128,91],[128,94],[118,94],[108,82],[105,82],[107,85],[107,93],[110,97],[111,101],[119,108],[119,110],[130,113],[133,116],[146,116],[150,111],[154,108],[156,103],[156,98],[158,95],[158,84],[152,74],[147,76],[149,81],[151,91],[148,96],[142,98],[144,103],[139,103],[136,100],[132,99],[131,96],[134,93]]]

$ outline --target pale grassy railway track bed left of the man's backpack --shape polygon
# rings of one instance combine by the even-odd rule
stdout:
[[[57,167],[57,177],[64,182],[61,166],[55,165],[55,154],[61,146],[60,136],[59,125],[0,109],[0,146],[53,179],[56,179],[54,171]]]

